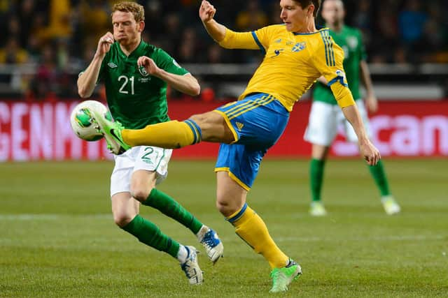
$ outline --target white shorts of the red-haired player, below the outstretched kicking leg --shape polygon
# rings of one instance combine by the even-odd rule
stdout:
[[[131,176],[137,170],[156,172],[160,184],[167,178],[168,162],[173,150],[151,146],[138,146],[114,156],[115,167],[111,175],[111,198],[116,193],[130,192]]]

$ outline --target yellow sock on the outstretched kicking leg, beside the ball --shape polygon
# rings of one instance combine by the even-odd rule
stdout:
[[[148,125],[142,129],[123,129],[123,141],[130,146],[155,146],[176,149],[201,141],[201,129],[188,119],[186,121],[167,121]]]

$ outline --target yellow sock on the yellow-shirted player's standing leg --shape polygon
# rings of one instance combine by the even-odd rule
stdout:
[[[247,204],[228,218],[235,226],[235,232],[255,253],[260,253],[271,268],[281,268],[288,264],[289,258],[276,246],[272,240],[265,222]]]

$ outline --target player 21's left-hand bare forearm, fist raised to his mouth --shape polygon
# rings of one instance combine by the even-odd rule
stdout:
[[[99,77],[99,70],[106,53],[111,50],[113,44],[113,35],[111,32],[104,34],[99,38],[97,52],[95,52],[92,61],[83,73],[78,77],[78,94],[81,98],[88,98],[92,95]]]

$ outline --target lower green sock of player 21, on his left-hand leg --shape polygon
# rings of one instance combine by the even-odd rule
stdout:
[[[158,251],[165,251],[165,253],[169,253],[169,255],[177,258],[179,242],[163,234],[157,225],[151,223],[151,221],[147,221],[145,218],[139,216],[139,214],[122,229],[133,234],[140,242]]]

